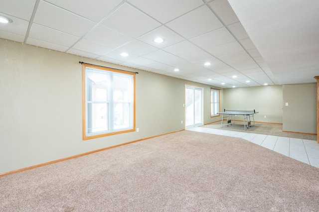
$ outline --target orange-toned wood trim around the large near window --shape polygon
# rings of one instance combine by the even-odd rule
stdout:
[[[96,135],[86,135],[86,96],[85,96],[85,82],[86,82],[86,76],[85,76],[85,69],[86,67],[88,68],[94,68],[98,70],[104,70],[104,71],[110,71],[110,72],[116,72],[116,73],[122,73],[122,74],[127,74],[127,75],[132,75],[133,77],[133,128],[132,129],[126,129],[126,130],[120,130],[120,131],[113,131],[113,132],[108,132],[108,133],[102,133],[102,134],[96,134]],[[93,139],[93,138],[99,138],[99,137],[104,137],[104,136],[109,136],[109,135],[115,135],[115,134],[121,134],[121,133],[126,133],[126,132],[134,132],[136,129],[136,93],[135,93],[135,76],[136,73],[134,72],[126,72],[122,70],[117,70],[117,69],[112,69],[112,68],[107,68],[107,67],[101,67],[101,66],[95,66],[91,64],[82,64],[82,137],[83,140],[88,140],[88,139]]]

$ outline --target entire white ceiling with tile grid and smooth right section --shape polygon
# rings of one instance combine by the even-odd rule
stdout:
[[[219,88],[315,83],[318,11],[318,0],[1,0],[13,22],[0,38]]]

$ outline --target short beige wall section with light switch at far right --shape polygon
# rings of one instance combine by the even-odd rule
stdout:
[[[283,97],[283,130],[317,133],[317,84],[284,85]]]

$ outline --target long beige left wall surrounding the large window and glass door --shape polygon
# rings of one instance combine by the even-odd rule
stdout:
[[[0,39],[0,174],[117,144],[184,129],[184,86],[210,87],[142,70]],[[79,61],[136,75],[140,132],[82,140],[82,69]]]

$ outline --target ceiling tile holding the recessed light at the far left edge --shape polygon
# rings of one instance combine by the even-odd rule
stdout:
[[[29,26],[29,21],[26,21],[11,15],[6,15],[1,12],[0,12],[0,15],[5,15],[6,17],[11,18],[13,20],[13,22],[8,24],[0,23],[0,31],[5,31],[5,32],[9,32],[9,33],[21,35],[21,36],[26,35],[27,29]]]

